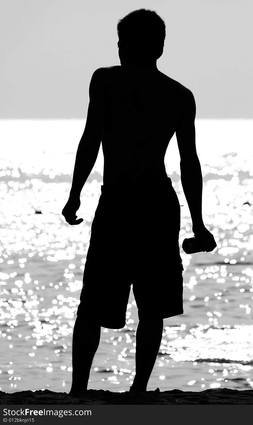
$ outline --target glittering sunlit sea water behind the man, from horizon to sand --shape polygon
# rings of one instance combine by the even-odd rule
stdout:
[[[84,221],[67,224],[61,211],[84,125],[85,120],[0,121],[1,391],[70,390],[72,330],[103,182],[100,148],[81,193],[77,215]],[[253,388],[252,136],[253,120],[196,120],[203,220],[217,248],[192,255],[181,249],[184,314],[164,319],[148,390]],[[181,246],[193,233],[175,136],[165,164],[181,205]],[[170,285],[170,274],[167,279]],[[131,290],[125,327],[101,328],[88,388],[128,391],[137,324]]]

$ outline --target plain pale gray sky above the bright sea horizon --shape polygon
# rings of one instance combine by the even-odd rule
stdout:
[[[157,66],[197,118],[252,118],[252,0],[2,0],[0,118],[85,118],[93,71],[120,65],[117,21],[142,7],[165,21]]]

